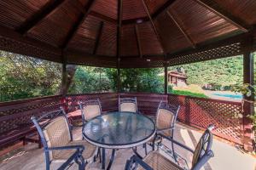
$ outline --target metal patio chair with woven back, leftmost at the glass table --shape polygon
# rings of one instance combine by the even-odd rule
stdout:
[[[32,116],[31,119],[44,146],[46,170],[56,160],[64,161],[59,169],[64,169],[75,161],[79,164],[79,170],[84,170],[86,164],[95,158],[96,146],[84,140],[73,140],[71,126],[62,108],[38,118]]]

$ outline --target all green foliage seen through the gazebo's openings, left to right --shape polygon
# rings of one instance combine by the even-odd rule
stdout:
[[[69,66],[69,94],[116,91],[116,69],[73,65],[68,65],[67,68]],[[172,66],[168,70],[183,68],[188,77],[188,84],[195,84],[199,88],[207,84],[214,90],[229,90],[234,84],[242,84],[242,66],[242,57],[237,56]],[[121,91],[163,93],[163,72],[162,68],[121,69]],[[60,89],[61,64],[0,51],[0,101],[59,94]],[[206,97],[197,91],[175,91],[172,87],[169,87],[169,92]]]

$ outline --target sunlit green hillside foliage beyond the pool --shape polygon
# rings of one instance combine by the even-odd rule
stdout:
[[[211,85],[213,90],[229,90],[231,85],[242,84],[242,56],[224,59],[213,59],[188,65],[169,67],[173,71],[182,67],[188,79],[188,84],[203,87]]]

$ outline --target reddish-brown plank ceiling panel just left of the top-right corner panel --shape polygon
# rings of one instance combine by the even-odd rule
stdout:
[[[196,43],[238,30],[236,26],[193,0],[178,0],[169,8],[169,11]]]

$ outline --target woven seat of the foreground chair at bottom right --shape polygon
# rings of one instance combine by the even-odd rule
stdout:
[[[161,155],[159,151],[150,152],[143,161],[154,170],[183,170],[183,168],[178,167],[174,162],[168,160],[166,156]],[[144,168],[138,166],[137,170],[144,170]]]

